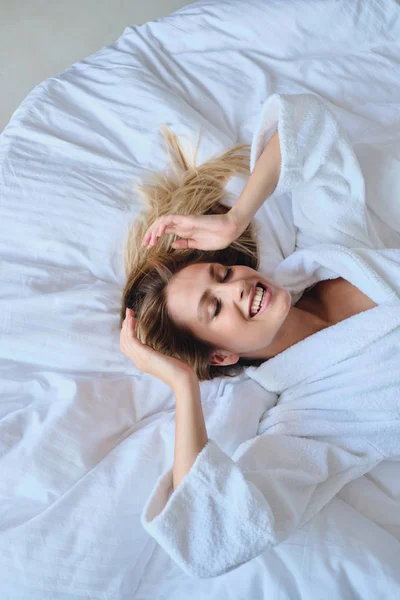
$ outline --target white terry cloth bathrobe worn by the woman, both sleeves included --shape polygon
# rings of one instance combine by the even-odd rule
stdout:
[[[228,572],[287,539],[348,482],[400,459],[400,245],[385,247],[389,224],[377,217],[378,203],[377,212],[366,205],[356,155],[321,100],[270,96],[251,168],[277,128],[274,195],[291,192],[297,239],[273,280],[295,303],[317,281],[343,277],[378,306],[249,367],[272,398],[259,435],[232,456],[209,439],[175,491],[172,466],[156,482],[142,525],[199,577]],[[400,214],[392,242],[399,230]]]

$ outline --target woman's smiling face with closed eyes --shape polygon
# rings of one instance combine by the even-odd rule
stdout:
[[[258,283],[272,295],[265,310],[251,316]],[[262,351],[274,341],[291,308],[287,290],[240,265],[190,265],[173,276],[166,292],[173,321],[221,351],[213,353],[211,364],[233,364],[241,356],[264,357]]]

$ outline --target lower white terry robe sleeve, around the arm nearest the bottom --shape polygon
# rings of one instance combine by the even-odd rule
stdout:
[[[231,458],[210,439],[175,491],[172,468],[161,475],[142,526],[186,573],[221,575],[285,540],[383,460],[365,441],[350,443],[264,434]]]

